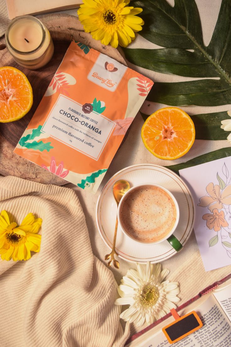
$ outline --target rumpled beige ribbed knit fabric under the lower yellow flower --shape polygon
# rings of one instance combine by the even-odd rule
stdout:
[[[0,261],[1,347],[120,347],[128,338],[114,305],[112,272],[92,253],[72,189],[0,177],[0,210],[43,219],[41,250]]]

